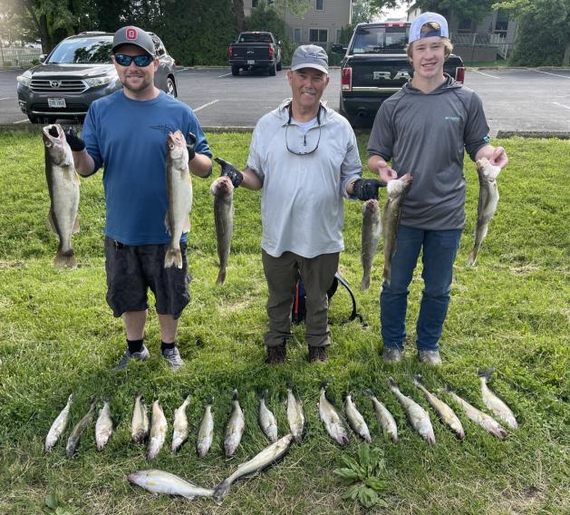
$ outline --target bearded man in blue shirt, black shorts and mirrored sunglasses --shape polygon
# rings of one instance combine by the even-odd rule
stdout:
[[[115,370],[149,357],[143,342],[149,288],[156,298],[160,354],[175,370],[183,364],[175,344],[179,316],[189,300],[188,233],[180,240],[182,268],[165,268],[168,134],[179,130],[187,136],[188,168],[198,177],[211,173],[212,154],[194,112],[154,85],[159,59],[150,34],[135,26],[119,29],[112,62],[122,89],[93,102],[82,139],[71,132],[67,140],[82,176],[105,169],[107,302],[114,316],[122,316],[127,333],[127,348]]]

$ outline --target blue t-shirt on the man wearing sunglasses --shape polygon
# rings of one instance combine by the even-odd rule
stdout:
[[[183,102],[165,92],[150,101],[130,100],[122,90],[92,102],[82,139],[95,161],[104,165],[107,219],[105,235],[125,245],[168,243],[167,135],[196,135],[195,150],[212,153],[198,119]],[[186,241],[188,234],[182,236]]]

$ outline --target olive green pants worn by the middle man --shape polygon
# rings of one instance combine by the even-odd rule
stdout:
[[[269,298],[267,316],[269,328],[265,340],[268,347],[284,345],[291,337],[291,311],[295,280],[301,275],[306,292],[304,335],[311,347],[331,345],[328,326],[329,301],[326,292],[333,284],[340,254],[322,254],[312,258],[284,252],[280,257],[269,256],[262,250]]]

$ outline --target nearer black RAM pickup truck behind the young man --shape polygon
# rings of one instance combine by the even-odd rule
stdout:
[[[373,120],[382,102],[413,76],[406,54],[409,23],[358,24],[341,63],[340,112],[353,125]],[[449,55],[443,71],[463,83],[465,69],[458,55]]]

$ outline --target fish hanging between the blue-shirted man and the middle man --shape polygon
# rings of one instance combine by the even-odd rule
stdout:
[[[214,195],[214,223],[219,257],[216,284],[219,286],[226,280],[227,259],[234,232],[234,186],[227,176],[223,176],[212,182],[210,192]]]

